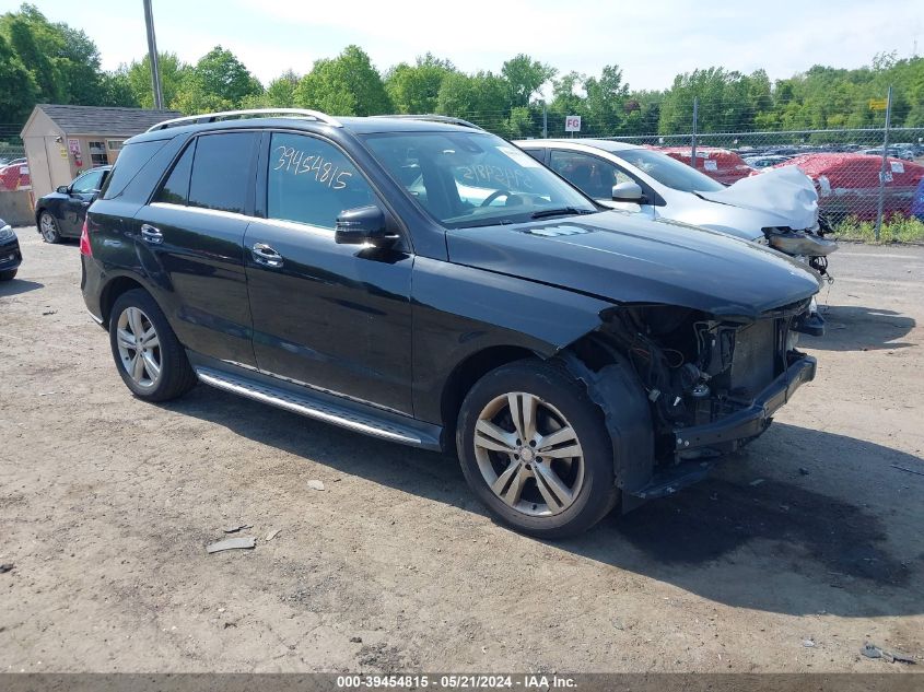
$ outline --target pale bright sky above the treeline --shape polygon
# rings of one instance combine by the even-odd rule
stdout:
[[[32,0],[82,28],[105,69],[147,52],[141,0]],[[767,70],[771,80],[812,64],[856,68],[881,51],[924,51],[921,0],[152,0],[157,48],[195,62],[231,49],[265,84],[356,44],[384,72],[428,51],[458,68],[499,71],[525,52],[560,72],[622,68],[632,89],[666,89],[679,72]],[[17,2],[0,0],[0,11]],[[74,8],[79,8],[74,11]],[[921,55],[919,51],[917,55]]]

